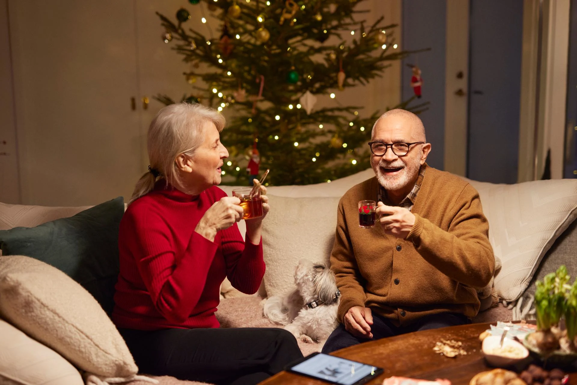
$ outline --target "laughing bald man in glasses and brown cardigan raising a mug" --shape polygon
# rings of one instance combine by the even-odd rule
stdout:
[[[369,143],[375,177],[339,202],[331,268],[341,292],[324,353],[406,332],[470,323],[477,288],[493,276],[489,225],[477,191],[428,167],[417,115],[383,114]],[[380,225],[358,225],[358,201],[378,201]]]

